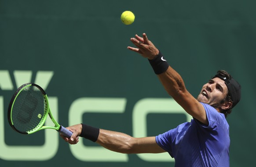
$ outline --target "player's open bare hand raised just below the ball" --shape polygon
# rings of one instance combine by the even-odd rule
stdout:
[[[135,35],[135,38],[131,38],[132,43],[137,47],[128,46],[129,50],[141,54],[143,57],[148,59],[154,59],[159,53],[159,50],[154,46],[154,44],[148,40],[146,33],[143,33],[143,37]]]

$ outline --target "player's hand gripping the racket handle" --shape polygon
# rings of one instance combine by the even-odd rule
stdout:
[[[69,131],[73,132],[73,135],[69,138],[67,138],[66,136],[60,134],[60,136],[62,137],[62,139],[64,139],[66,142],[68,142],[69,144],[77,144],[77,142],[79,142],[79,135],[81,134],[82,131],[82,125],[81,124],[76,124],[70,127],[67,127],[67,129]]]

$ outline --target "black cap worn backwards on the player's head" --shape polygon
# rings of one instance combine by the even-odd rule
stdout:
[[[227,79],[225,76],[219,73],[212,78],[216,78],[216,77],[222,79],[227,85],[228,94],[231,97],[231,100],[233,101],[231,108],[235,107],[235,105],[237,105],[237,103],[240,101],[240,98],[241,98],[241,85],[233,78]]]

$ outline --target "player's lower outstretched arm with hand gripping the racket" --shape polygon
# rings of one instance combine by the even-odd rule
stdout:
[[[164,149],[158,146],[155,137],[134,138],[121,132],[94,128],[85,124],[76,124],[67,127],[67,129],[73,132],[71,138],[69,139],[64,135],[61,135],[61,137],[69,144],[77,144],[79,141],[77,136],[81,136],[118,153],[165,152]]]

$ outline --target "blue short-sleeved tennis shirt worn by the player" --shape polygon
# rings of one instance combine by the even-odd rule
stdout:
[[[156,142],[172,158],[175,167],[229,167],[229,125],[224,114],[208,104],[209,125],[196,119],[156,136]]]

